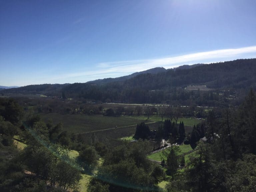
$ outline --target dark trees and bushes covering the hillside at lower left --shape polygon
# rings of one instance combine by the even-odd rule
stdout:
[[[81,173],[92,171],[105,155],[103,144],[93,145],[63,131],[61,123],[24,117],[14,99],[0,98],[0,191],[77,191]],[[70,149],[80,151],[78,158],[70,158]]]

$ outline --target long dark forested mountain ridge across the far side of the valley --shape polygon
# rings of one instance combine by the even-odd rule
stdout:
[[[161,68],[160,68],[161,69]],[[164,68],[163,68],[164,69]],[[165,70],[165,69],[164,69]],[[143,73],[130,79],[96,84],[44,84],[2,90],[0,93],[33,93],[63,98],[83,98],[101,102],[176,103],[215,106],[216,102],[230,103],[243,99],[244,93],[256,87],[256,59],[196,65],[189,69],[169,69],[158,73]],[[188,85],[206,85],[209,92],[184,90]],[[223,91],[228,91],[223,93]],[[235,94],[231,98],[230,95]],[[190,103],[189,103],[190,102]],[[236,105],[236,103],[235,103]]]

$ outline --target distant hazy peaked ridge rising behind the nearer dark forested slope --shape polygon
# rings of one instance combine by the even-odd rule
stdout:
[[[148,69],[146,71],[132,73],[131,75],[126,75],[126,76],[117,77],[117,78],[97,79],[97,80],[94,80],[94,81],[88,81],[87,83],[103,85],[103,84],[110,83],[110,82],[115,82],[115,81],[125,81],[127,79],[130,79],[130,78],[135,77],[135,76],[140,75],[140,74],[145,74],[145,73],[156,74],[156,73],[161,73],[161,72],[165,72],[165,71],[166,71],[166,69],[163,68],[163,67],[155,67],[155,68],[152,68],[152,69]]]

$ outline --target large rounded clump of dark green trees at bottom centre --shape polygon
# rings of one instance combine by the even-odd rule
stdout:
[[[109,151],[98,171],[97,182],[92,180],[89,189],[95,191],[94,184],[99,189],[108,184],[111,192],[157,189],[154,184],[164,177],[164,173],[158,165],[156,167],[147,159],[149,150],[148,141],[139,140]]]

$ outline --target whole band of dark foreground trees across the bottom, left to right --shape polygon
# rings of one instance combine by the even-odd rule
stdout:
[[[194,127],[190,144],[193,141],[196,151],[187,163],[178,155],[178,147],[171,147],[166,163],[162,163],[167,172],[147,159],[146,155],[152,151],[149,141],[123,142],[108,149],[97,142],[88,146],[78,136],[62,137],[63,131],[58,131],[60,125],[45,124],[33,117],[22,126],[21,118],[22,109],[15,100],[0,99],[1,191],[78,190],[83,171],[95,174],[89,192],[161,191],[157,184],[167,180],[166,174],[169,175],[166,192],[255,191],[256,95],[253,90],[238,109],[226,108],[222,113],[212,110],[205,126]],[[177,124],[175,119],[173,122]],[[165,136],[182,140],[179,138],[184,137],[182,122],[175,129],[173,122],[165,121]],[[143,131],[148,129],[143,127]],[[15,134],[26,141],[22,152],[13,146]],[[203,135],[206,140],[198,142]],[[69,159],[70,146],[80,147],[77,160]],[[99,156],[104,158],[101,166]],[[184,171],[178,171],[185,164]]]

